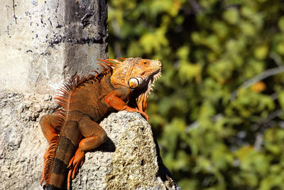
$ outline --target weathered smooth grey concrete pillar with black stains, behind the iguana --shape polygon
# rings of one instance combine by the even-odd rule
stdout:
[[[107,1],[1,0],[0,92],[54,94],[107,58]]]

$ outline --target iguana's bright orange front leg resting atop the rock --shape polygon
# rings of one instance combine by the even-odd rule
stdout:
[[[115,110],[122,111],[126,110],[127,112],[139,112],[146,120],[149,120],[149,116],[146,112],[138,110],[138,108],[129,107],[126,102],[129,100],[131,95],[131,90],[129,88],[119,88],[117,90],[111,91],[106,97],[104,97],[105,102]]]

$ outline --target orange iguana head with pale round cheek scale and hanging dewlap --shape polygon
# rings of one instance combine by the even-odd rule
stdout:
[[[152,90],[153,83],[160,76],[162,63],[159,60],[143,58],[122,60],[112,60],[117,64],[112,65],[111,83],[131,88],[138,110],[146,112],[146,100]]]

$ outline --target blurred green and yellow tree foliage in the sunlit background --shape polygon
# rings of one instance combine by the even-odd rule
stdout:
[[[284,1],[110,0],[109,57],[158,58],[148,115],[182,189],[284,189]]]

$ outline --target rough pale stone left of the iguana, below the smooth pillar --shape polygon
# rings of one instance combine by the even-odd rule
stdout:
[[[50,95],[0,94],[0,189],[40,189],[47,142],[38,118],[54,110]]]

